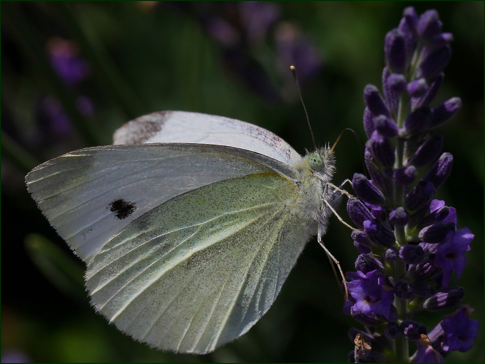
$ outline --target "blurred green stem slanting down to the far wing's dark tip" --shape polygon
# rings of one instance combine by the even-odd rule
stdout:
[[[125,114],[130,119],[145,114],[146,107],[126,82],[97,36],[93,32],[87,32],[80,23],[79,18],[73,13],[71,4],[53,1],[50,5],[55,8],[64,25],[80,45],[82,54],[93,67],[105,90],[118,102]]]

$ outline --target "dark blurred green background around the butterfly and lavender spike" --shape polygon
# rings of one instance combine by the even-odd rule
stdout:
[[[89,306],[84,266],[28,195],[24,175],[68,151],[111,143],[128,120],[158,110],[241,119],[304,154],[305,114],[288,67],[300,76],[317,143],[344,128],[365,141],[367,83],[381,88],[383,42],[404,7],[438,10],[453,57],[435,103],[460,112],[438,132],[454,156],[437,198],[475,234],[458,285],[472,318],[484,308],[484,2],[1,2],[2,362],[346,362],[343,297],[311,241],[270,311],[240,339],[211,354],[150,349]],[[344,135],[334,182],[362,172]],[[339,212],[349,220],[344,206]],[[324,237],[344,271],[357,252],[335,217]],[[441,314],[418,314],[433,329]],[[482,326],[483,328],[483,326]],[[448,362],[483,363],[483,330]]]

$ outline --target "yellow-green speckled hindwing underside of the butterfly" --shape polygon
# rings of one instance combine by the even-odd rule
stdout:
[[[170,199],[97,252],[86,285],[97,309],[151,346],[205,353],[270,308],[303,250],[294,182],[258,173]]]

